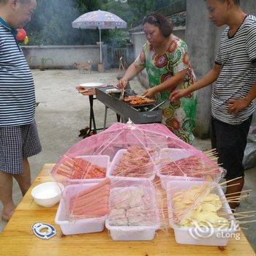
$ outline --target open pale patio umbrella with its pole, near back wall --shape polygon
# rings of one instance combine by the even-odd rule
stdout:
[[[125,29],[127,23],[111,12],[86,12],[72,22],[75,29],[99,29],[100,63],[102,63],[102,29]]]

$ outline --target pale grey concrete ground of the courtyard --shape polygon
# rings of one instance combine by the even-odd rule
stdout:
[[[32,180],[45,163],[56,162],[68,148],[81,140],[78,137],[79,129],[89,124],[89,99],[75,90],[75,86],[86,82],[117,83],[118,70],[114,69],[105,73],[92,72],[91,75],[79,74],[78,70],[47,70],[41,72],[33,70],[37,102],[36,110],[37,127],[42,143],[42,153],[31,157]],[[131,82],[136,92],[143,91],[137,80]],[[94,114],[97,119],[97,127],[103,126],[104,105],[97,100],[94,101]],[[116,115],[108,110],[107,125],[116,121]],[[196,140],[195,146],[201,150],[211,148],[209,140]],[[238,211],[256,210],[256,168],[246,170],[246,184],[244,189],[252,189],[248,199],[241,202]],[[13,188],[15,203],[21,199],[20,190],[15,183]],[[0,203],[0,212],[1,212]],[[0,221],[0,231],[6,225]],[[256,250],[256,223],[248,225],[244,230],[246,237]]]

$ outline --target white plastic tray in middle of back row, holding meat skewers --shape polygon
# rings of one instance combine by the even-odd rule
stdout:
[[[153,181],[154,177],[156,176],[154,167],[152,170],[152,175],[149,176],[148,178],[138,178],[138,177],[125,177],[125,176],[113,176],[113,170],[116,167],[116,164],[120,161],[121,157],[123,156],[124,153],[127,152],[127,149],[120,149],[117,151],[115,157],[113,158],[113,161],[111,162],[110,167],[108,168],[107,171],[107,177],[110,178],[111,181]]]

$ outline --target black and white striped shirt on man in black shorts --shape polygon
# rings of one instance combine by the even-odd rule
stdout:
[[[229,99],[246,97],[256,82],[256,18],[246,15],[233,37],[225,29],[215,63],[221,65],[211,96],[211,114],[227,124],[241,124],[255,111],[253,102],[238,115],[227,113]]]

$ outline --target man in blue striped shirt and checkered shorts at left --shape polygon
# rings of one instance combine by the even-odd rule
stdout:
[[[34,80],[16,39],[16,29],[31,20],[36,7],[36,0],[0,0],[0,200],[5,221],[15,210],[12,177],[25,195],[31,186],[28,157],[41,151]]]

